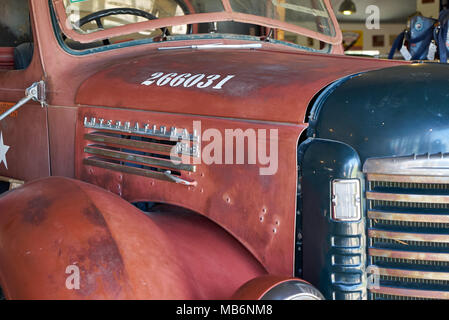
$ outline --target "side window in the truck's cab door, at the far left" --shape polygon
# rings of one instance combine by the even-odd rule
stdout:
[[[26,69],[33,47],[28,0],[1,0],[0,70]]]

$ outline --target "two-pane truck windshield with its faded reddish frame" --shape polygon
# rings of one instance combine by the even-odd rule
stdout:
[[[328,0],[53,0],[53,3],[59,21],[67,21],[61,23],[63,31],[71,31],[72,38],[83,43],[106,38],[126,41],[130,35],[136,39],[164,33],[259,35],[251,26],[275,28],[281,35],[285,31],[331,44],[338,42]],[[221,30],[211,30],[210,24],[218,22]],[[238,25],[229,28],[231,22]]]

